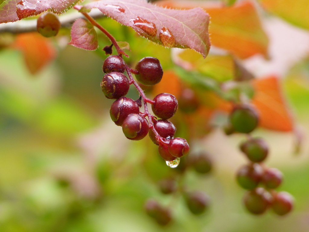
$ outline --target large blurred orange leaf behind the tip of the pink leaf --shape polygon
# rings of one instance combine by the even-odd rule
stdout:
[[[200,2],[199,6],[211,18],[209,34],[212,45],[229,50],[242,59],[254,54],[267,56],[268,38],[251,1],[243,1],[231,7],[222,4],[213,7],[207,1]],[[188,0],[167,0],[157,4],[182,9],[192,7],[192,1]]]

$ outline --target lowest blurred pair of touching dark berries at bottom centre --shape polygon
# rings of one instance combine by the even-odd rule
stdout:
[[[147,200],[145,204],[146,213],[154,218],[161,226],[166,226],[172,220],[171,211],[168,208],[163,208],[155,200]]]

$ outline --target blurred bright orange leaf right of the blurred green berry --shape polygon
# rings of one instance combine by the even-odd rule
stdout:
[[[293,118],[282,96],[279,78],[269,76],[253,81],[256,90],[252,103],[260,114],[260,126],[276,131],[292,131]]]

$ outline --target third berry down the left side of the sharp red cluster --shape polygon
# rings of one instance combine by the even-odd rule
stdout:
[[[137,103],[128,97],[121,97],[113,102],[109,110],[112,120],[117,126],[122,126],[123,121],[129,114],[138,114]]]

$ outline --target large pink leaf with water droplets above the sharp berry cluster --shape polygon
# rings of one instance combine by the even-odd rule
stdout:
[[[165,47],[191,48],[209,52],[209,15],[201,8],[164,9],[143,0],[101,0],[86,4],[81,11],[98,8],[119,23],[132,27],[141,36]]]

